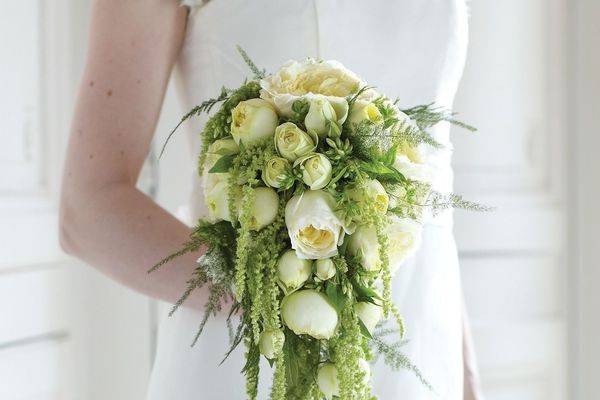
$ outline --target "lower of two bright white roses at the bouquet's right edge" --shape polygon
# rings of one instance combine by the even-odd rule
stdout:
[[[390,269],[394,273],[421,246],[423,226],[414,219],[391,216],[386,232]]]

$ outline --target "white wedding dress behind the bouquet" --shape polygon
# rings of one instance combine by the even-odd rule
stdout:
[[[336,59],[381,92],[398,96],[402,106],[435,101],[450,107],[465,60],[467,7],[465,0],[198,0],[190,6],[176,71],[187,108],[250,75],[236,44],[268,71],[291,58]],[[190,129],[194,152],[204,120]],[[436,170],[436,187],[447,191],[452,187],[447,124],[433,134],[446,150],[428,162]],[[193,188],[196,218],[203,199],[197,177]],[[404,350],[435,392],[411,372],[391,371],[379,360],[372,366],[375,394],[382,400],[462,399],[462,297],[451,213],[426,224],[423,245],[400,268],[393,294],[407,325]],[[218,366],[229,345],[224,317],[212,319],[190,348],[200,318],[184,308],[164,318],[149,400],[245,398],[244,346]],[[268,365],[263,369],[261,398],[267,398]]]

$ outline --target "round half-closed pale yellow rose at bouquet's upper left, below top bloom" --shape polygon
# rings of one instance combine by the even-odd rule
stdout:
[[[277,113],[268,101],[241,101],[231,113],[231,135],[238,144],[253,144],[271,137],[277,122]]]

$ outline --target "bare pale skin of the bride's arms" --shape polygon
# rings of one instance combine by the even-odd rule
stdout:
[[[186,9],[175,0],[93,2],[60,204],[61,246],[67,253],[168,302],[183,293],[201,254],[182,256],[168,268],[147,274],[149,266],[187,240],[190,228],[135,184],[185,37],[186,19]],[[196,290],[186,305],[202,308],[207,294]],[[465,340],[469,354],[470,341]],[[469,360],[465,357],[465,399],[481,399]]]

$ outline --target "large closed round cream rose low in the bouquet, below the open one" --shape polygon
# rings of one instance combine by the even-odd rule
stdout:
[[[299,290],[284,297],[281,317],[296,335],[315,339],[331,339],[338,324],[338,315],[323,293]]]

